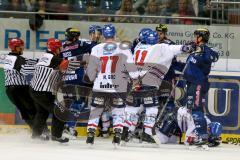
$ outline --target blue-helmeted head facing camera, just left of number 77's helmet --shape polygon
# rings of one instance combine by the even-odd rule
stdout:
[[[98,25],[89,26],[89,36],[91,41],[99,42],[102,37],[102,27]]]

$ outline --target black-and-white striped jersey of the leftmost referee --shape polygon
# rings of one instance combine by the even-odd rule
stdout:
[[[4,59],[5,86],[28,85],[25,76],[20,73],[26,59],[20,55],[9,53]]]

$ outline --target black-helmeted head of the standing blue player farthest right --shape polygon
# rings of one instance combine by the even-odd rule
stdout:
[[[207,43],[210,37],[210,32],[207,28],[198,28],[194,31],[194,40],[197,44]]]

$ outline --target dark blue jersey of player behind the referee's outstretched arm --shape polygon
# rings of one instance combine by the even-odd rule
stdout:
[[[83,59],[84,54],[90,54],[92,48],[97,45],[97,42],[91,41],[80,41],[63,44],[63,49],[60,53],[60,56],[68,60],[79,60]],[[64,76],[64,81],[66,84],[76,84],[84,85],[82,79],[84,76],[84,68],[80,67],[73,72],[68,72]]]

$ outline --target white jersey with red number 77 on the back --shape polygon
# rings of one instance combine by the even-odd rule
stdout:
[[[126,77],[138,77],[131,51],[123,50],[119,45],[101,43],[92,48],[86,72],[89,79],[94,81],[93,91],[126,92],[128,84]],[[126,71],[129,75],[126,75]]]

